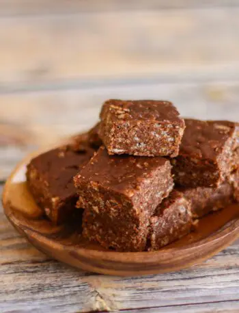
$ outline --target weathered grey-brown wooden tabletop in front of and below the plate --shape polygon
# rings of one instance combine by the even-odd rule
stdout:
[[[31,247],[0,205],[0,247],[1,313],[202,313],[239,308],[239,242],[187,271],[128,278],[96,275],[64,266]]]

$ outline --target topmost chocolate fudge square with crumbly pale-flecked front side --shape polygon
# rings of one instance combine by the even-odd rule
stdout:
[[[100,118],[99,135],[110,155],[178,155],[185,125],[171,102],[109,100]]]

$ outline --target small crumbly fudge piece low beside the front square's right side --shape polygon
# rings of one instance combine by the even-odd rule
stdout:
[[[192,229],[191,204],[181,192],[173,190],[150,219],[148,249],[158,250],[189,234]]]

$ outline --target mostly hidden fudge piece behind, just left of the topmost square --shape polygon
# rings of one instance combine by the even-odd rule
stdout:
[[[69,147],[73,151],[84,151],[88,147],[98,150],[102,145],[102,140],[98,136],[100,123],[97,123],[89,132],[81,133],[70,138],[70,142],[67,142],[66,147]]]

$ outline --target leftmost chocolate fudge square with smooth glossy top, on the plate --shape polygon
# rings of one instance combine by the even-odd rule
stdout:
[[[75,152],[60,147],[38,155],[27,166],[29,189],[53,223],[63,223],[70,216],[78,199],[73,177],[93,154],[89,148]]]

